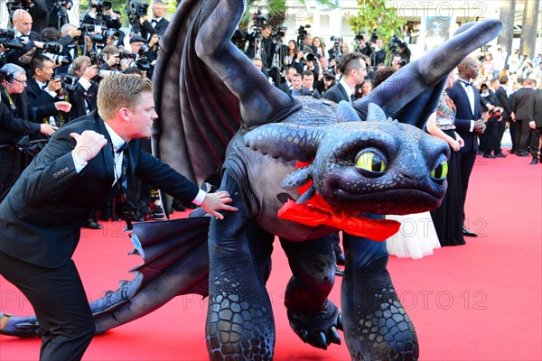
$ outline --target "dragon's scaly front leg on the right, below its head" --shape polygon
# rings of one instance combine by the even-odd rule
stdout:
[[[343,235],[341,305],[352,360],[417,360],[416,330],[387,270],[386,242]]]

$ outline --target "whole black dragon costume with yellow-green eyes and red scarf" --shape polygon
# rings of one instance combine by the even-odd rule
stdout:
[[[421,129],[447,75],[498,35],[498,21],[463,25],[353,104],[290,97],[232,42],[242,0],[184,0],[161,40],[154,71],[160,120],[154,154],[198,184],[221,174],[237,213],[135,224],[144,263],[135,278],[91,303],[98,332],[156,310],[176,295],[209,296],[211,360],[273,358],[266,280],[273,241],[292,270],[285,306],[313,347],[341,343],[355,360],[416,360],[416,331],[387,271],[394,221],[439,206],[449,147]],[[397,119],[397,120],[392,120]],[[377,218],[377,219],[372,219]],[[209,230],[209,232],[208,232]],[[327,296],[343,231],[341,311]],[[34,317],[1,314],[0,333],[39,334]]]

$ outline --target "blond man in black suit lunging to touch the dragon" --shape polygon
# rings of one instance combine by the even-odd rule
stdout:
[[[89,211],[123,192],[126,179],[137,174],[219,219],[218,210],[237,210],[227,191],[206,194],[140,150],[158,117],[149,79],[104,79],[98,109],[61,127],[0,204],[0,274],[36,311],[41,360],[80,360],[89,346],[94,319],[71,256]]]

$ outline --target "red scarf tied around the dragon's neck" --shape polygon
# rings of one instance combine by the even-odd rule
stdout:
[[[334,214],[319,208],[297,204],[289,199],[278,210],[278,218],[301,223],[306,226],[317,227],[326,225],[345,231],[353,236],[362,236],[381,242],[395,235],[401,224],[392,219],[369,219],[353,217],[347,214]]]

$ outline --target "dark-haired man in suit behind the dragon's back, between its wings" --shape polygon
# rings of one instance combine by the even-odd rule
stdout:
[[[359,52],[350,52],[342,57],[339,70],[341,71],[341,80],[329,88],[323,97],[339,103],[341,100],[352,101],[354,90],[358,84],[361,84],[367,72],[367,65],[364,56]]]

